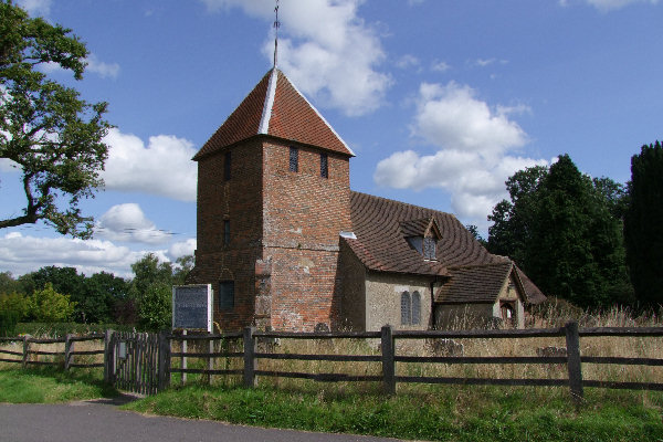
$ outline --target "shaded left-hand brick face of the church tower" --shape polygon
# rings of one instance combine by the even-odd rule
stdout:
[[[225,152],[231,179],[224,179]],[[262,257],[262,143],[231,146],[198,164],[198,250],[192,281],[211,283],[214,322],[223,330],[250,325],[254,316],[254,265]],[[224,221],[230,242],[224,244]],[[219,282],[234,281],[234,308],[219,309]]]

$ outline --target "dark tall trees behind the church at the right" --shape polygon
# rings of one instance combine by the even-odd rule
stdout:
[[[631,180],[591,178],[568,155],[519,170],[488,215],[487,249],[546,295],[581,307],[663,304],[663,149],[642,146]]]

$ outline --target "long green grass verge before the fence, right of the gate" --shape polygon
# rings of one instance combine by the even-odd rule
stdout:
[[[308,391],[188,386],[125,406],[182,418],[431,441],[663,441],[663,394],[564,389],[417,387],[387,398],[320,385]],[[316,391],[316,389],[318,389]]]

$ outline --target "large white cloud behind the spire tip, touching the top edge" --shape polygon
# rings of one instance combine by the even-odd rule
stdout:
[[[202,0],[208,9],[241,8],[272,21],[273,3],[262,0]],[[346,115],[377,109],[392,80],[377,71],[386,55],[377,31],[357,15],[364,0],[307,0],[281,4],[278,66],[305,94]],[[263,53],[272,60],[273,38]]]

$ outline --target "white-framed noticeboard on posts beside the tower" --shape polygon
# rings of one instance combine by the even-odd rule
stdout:
[[[172,329],[212,332],[212,285],[172,287]]]

